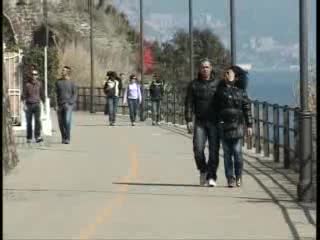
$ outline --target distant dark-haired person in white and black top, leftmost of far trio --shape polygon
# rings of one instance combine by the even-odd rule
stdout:
[[[103,87],[104,93],[106,94],[108,103],[108,114],[109,114],[109,125],[114,126],[116,122],[116,114],[118,109],[119,101],[119,81],[116,72],[111,72],[109,79],[106,81]]]

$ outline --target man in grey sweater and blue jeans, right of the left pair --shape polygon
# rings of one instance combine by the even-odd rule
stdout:
[[[62,143],[70,143],[72,110],[77,99],[76,85],[70,79],[71,68],[64,66],[62,77],[56,82],[57,115]]]

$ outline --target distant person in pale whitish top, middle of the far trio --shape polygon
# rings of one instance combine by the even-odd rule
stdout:
[[[132,74],[130,75],[129,84],[125,89],[123,96],[123,104],[128,103],[129,106],[130,121],[132,126],[135,126],[137,109],[138,105],[141,104],[141,101],[142,97],[140,85],[137,81],[136,75]]]

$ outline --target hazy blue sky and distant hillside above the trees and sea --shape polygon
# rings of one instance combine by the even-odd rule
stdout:
[[[310,55],[315,57],[316,0],[310,1]],[[139,0],[114,0],[138,27]],[[188,30],[188,0],[144,0],[145,37],[166,40],[177,28]],[[299,0],[236,0],[237,58],[266,64],[297,64]],[[193,0],[195,27],[208,27],[230,47],[229,0]],[[261,57],[261,53],[263,56]],[[265,59],[263,59],[265,58]],[[273,61],[274,59],[274,61]]]

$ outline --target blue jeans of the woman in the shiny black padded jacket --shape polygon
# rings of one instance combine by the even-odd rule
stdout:
[[[224,169],[226,178],[241,177],[243,160],[241,154],[241,139],[222,138],[223,154],[224,154]]]

